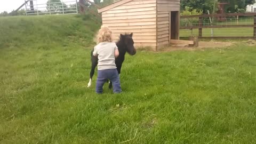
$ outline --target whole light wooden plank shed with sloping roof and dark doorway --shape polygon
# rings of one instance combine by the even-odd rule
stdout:
[[[135,46],[156,51],[170,39],[179,39],[180,0],[121,0],[98,12],[115,40],[121,33],[132,32]]]

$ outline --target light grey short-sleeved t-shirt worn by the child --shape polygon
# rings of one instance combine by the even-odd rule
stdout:
[[[102,42],[94,47],[93,55],[98,55],[98,70],[115,69],[116,43]]]

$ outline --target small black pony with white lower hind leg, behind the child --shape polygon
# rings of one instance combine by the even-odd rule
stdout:
[[[121,73],[122,63],[124,62],[125,53],[129,53],[130,55],[136,54],[136,50],[133,46],[134,42],[132,39],[132,33],[131,34],[121,34],[119,41],[116,43],[116,46],[118,47],[119,56],[116,58],[116,67],[118,74]],[[94,75],[95,67],[98,65],[98,57],[93,56],[93,50],[91,51],[91,61],[92,61],[92,67],[91,67],[91,73],[90,73],[90,81],[88,83],[87,87],[90,87],[92,85],[92,77]],[[109,89],[112,87],[112,83],[109,83]]]

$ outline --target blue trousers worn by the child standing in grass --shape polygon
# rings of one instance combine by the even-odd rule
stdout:
[[[103,92],[103,85],[107,81],[107,79],[109,79],[112,82],[114,93],[122,92],[117,69],[105,69],[105,70],[98,70],[98,77],[96,82],[97,93]]]

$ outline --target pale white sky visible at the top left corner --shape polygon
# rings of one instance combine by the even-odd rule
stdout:
[[[47,1],[48,0],[36,0],[36,1],[34,0],[34,5],[36,2],[37,4],[46,4]],[[62,1],[65,3],[65,1],[69,2],[69,1],[76,1],[76,0],[62,0]],[[0,0],[0,13],[3,11],[11,12],[12,10],[16,10],[24,2],[25,0]],[[23,6],[21,9],[25,9],[25,6]]]

